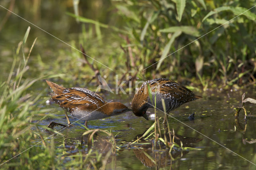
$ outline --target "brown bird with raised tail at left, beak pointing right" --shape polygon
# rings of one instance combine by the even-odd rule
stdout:
[[[102,119],[116,116],[131,111],[120,102],[107,103],[98,94],[80,87],[64,88],[58,84],[46,80],[53,94],[52,101],[65,109],[65,115],[70,125],[67,111],[76,118],[85,120],[87,127],[88,120]]]

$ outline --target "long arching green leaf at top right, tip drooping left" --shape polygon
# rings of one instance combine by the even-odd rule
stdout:
[[[222,6],[222,7],[219,7],[219,8],[216,8],[212,11],[210,11],[205,17],[204,19],[202,20],[202,22],[204,22],[204,20],[206,20],[209,16],[212,16],[213,14],[217,14],[219,12],[222,12],[222,11],[231,11],[233,12],[234,15],[238,16],[238,15],[244,15],[246,16],[248,19],[250,20],[256,20],[256,14],[250,12],[250,11],[247,11],[245,12],[246,8],[242,8],[242,7],[232,7],[232,6]],[[244,13],[243,13],[244,12]],[[243,14],[242,14],[243,13]]]

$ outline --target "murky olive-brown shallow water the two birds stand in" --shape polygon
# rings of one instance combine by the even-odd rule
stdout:
[[[244,90],[245,92],[245,90]],[[182,105],[173,110],[170,115],[174,118],[168,118],[170,128],[180,139],[183,146],[200,148],[201,150],[175,150],[172,152],[172,158],[168,150],[152,150],[152,146],[143,145],[136,149],[134,147],[123,148],[118,151],[114,159],[115,169],[154,169],[157,167],[164,169],[255,169],[256,163],[256,119],[248,118],[243,120],[244,112],[240,112],[239,120],[235,121],[234,108],[241,105],[241,96],[243,90],[238,92],[210,92],[203,99],[195,100]],[[246,92],[247,97],[254,97],[254,90],[251,93]],[[122,96],[108,96],[107,98],[122,98]],[[126,99],[127,100],[127,99]],[[131,99],[130,99],[131,100]],[[128,101],[120,101],[130,106]],[[47,106],[58,108],[56,104]],[[246,103],[248,114],[256,114],[255,105]],[[59,109],[59,108],[58,108]],[[56,115],[58,119],[47,119],[41,122],[47,125],[54,121],[61,124],[67,124],[64,111],[59,109]],[[153,109],[148,110],[148,114],[153,113]],[[195,112],[195,120],[189,121],[188,116]],[[163,113],[158,113],[163,116]],[[179,121],[180,122],[179,122]],[[70,115],[70,121],[76,119]],[[141,136],[152,124],[154,120],[145,120],[142,117],[136,117],[131,112],[113,116],[102,120],[92,120],[88,122],[88,128],[100,128],[111,130],[116,135],[117,144],[127,144],[134,141],[137,136]],[[83,124],[84,122],[80,122]],[[236,131],[235,131],[236,127]],[[246,127],[246,130],[245,130]],[[62,127],[56,126],[54,129],[60,130]],[[42,129],[44,136],[51,133]],[[61,131],[64,136],[55,135],[55,142],[62,142],[65,138],[66,146],[76,145],[81,140],[84,128],[78,123],[71,128]],[[200,133],[199,133],[200,132]],[[104,136],[104,134],[102,134]],[[74,151],[72,151],[74,152]],[[148,155],[154,159],[152,161]],[[108,168],[113,168],[113,162],[108,163]]]

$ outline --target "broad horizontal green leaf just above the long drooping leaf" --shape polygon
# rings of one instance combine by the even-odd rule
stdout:
[[[181,31],[185,34],[189,34],[189,35],[192,35],[192,36],[200,36],[200,33],[199,31],[193,27],[193,26],[171,26],[169,28],[164,28],[162,30],[159,30],[160,32],[178,32],[178,31]]]

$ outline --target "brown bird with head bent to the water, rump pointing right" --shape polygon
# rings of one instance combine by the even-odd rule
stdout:
[[[152,102],[148,94],[148,86],[152,92]],[[186,102],[202,98],[200,96],[196,96],[192,91],[174,81],[168,80],[166,78],[157,78],[148,80],[140,86],[137,93],[134,95],[134,98],[132,99],[132,112],[136,116],[143,116],[146,120],[148,120],[146,111],[148,108],[154,108],[153,106],[155,106],[155,97],[156,108],[162,111],[164,111],[162,105],[162,99],[164,99],[167,114],[171,110],[178,108]]]

